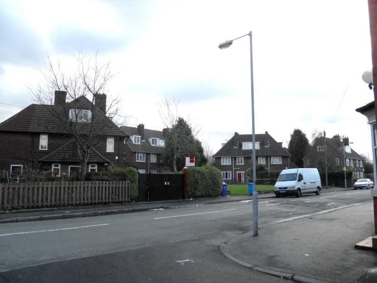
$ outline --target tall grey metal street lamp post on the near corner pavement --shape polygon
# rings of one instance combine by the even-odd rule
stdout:
[[[258,235],[258,195],[257,195],[257,172],[256,172],[256,160],[255,160],[255,126],[254,126],[254,76],[253,76],[253,34],[248,34],[237,37],[233,40],[227,40],[219,44],[219,49],[228,48],[233,44],[233,41],[248,35],[250,37],[250,76],[252,82],[252,130],[253,130],[253,235]]]

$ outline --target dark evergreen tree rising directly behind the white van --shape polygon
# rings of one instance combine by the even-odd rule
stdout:
[[[309,139],[300,129],[294,129],[288,144],[288,152],[292,155],[292,162],[303,168],[303,158],[309,148]]]

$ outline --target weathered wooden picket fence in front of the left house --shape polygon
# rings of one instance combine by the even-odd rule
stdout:
[[[128,181],[0,183],[0,210],[130,201]]]

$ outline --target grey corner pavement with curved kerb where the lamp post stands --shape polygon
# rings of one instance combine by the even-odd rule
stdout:
[[[354,247],[370,235],[372,200],[268,225],[220,249],[245,267],[298,282],[377,282],[377,253]]]

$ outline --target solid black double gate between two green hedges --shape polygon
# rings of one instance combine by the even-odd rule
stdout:
[[[184,193],[184,174],[139,174],[139,202],[181,200]]]

